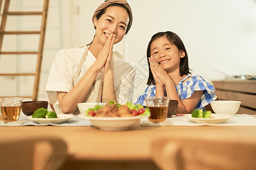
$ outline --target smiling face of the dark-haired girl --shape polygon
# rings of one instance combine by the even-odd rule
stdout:
[[[179,71],[180,58],[185,57],[184,51],[168,41],[166,36],[152,42],[150,53],[167,73]]]

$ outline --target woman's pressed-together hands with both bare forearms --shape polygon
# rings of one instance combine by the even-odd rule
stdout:
[[[102,93],[102,99],[111,99],[117,101],[115,94],[106,94],[108,90],[114,91],[114,78],[113,78],[113,44],[114,35],[110,35],[106,41],[101,52],[98,54],[96,61],[90,66],[89,70],[86,71],[81,80],[72,88],[69,92],[57,92],[60,108],[63,113],[73,113],[77,109],[77,103],[81,103],[90,88],[98,73],[104,68],[104,89]],[[108,90],[107,90],[108,89]]]

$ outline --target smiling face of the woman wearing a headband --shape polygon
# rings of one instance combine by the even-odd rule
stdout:
[[[125,8],[110,6],[106,8],[105,14],[100,19],[94,20],[96,35],[94,40],[105,44],[111,34],[115,35],[114,44],[117,44],[125,36],[129,15]]]

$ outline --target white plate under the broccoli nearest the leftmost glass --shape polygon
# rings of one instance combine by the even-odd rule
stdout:
[[[65,121],[68,121],[72,117],[75,117],[75,116],[71,114],[57,114],[57,118],[32,118],[32,116],[27,116],[27,119],[37,122],[38,124],[48,124],[48,123],[60,124]]]

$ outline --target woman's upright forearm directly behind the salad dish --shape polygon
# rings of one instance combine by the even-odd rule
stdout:
[[[102,102],[106,103],[110,100],[117,102],[117,96],[115,95],[115,87],[114,87],[114,75],[112,71],[109,71],[104,75],[103,92],[102,92]]]

